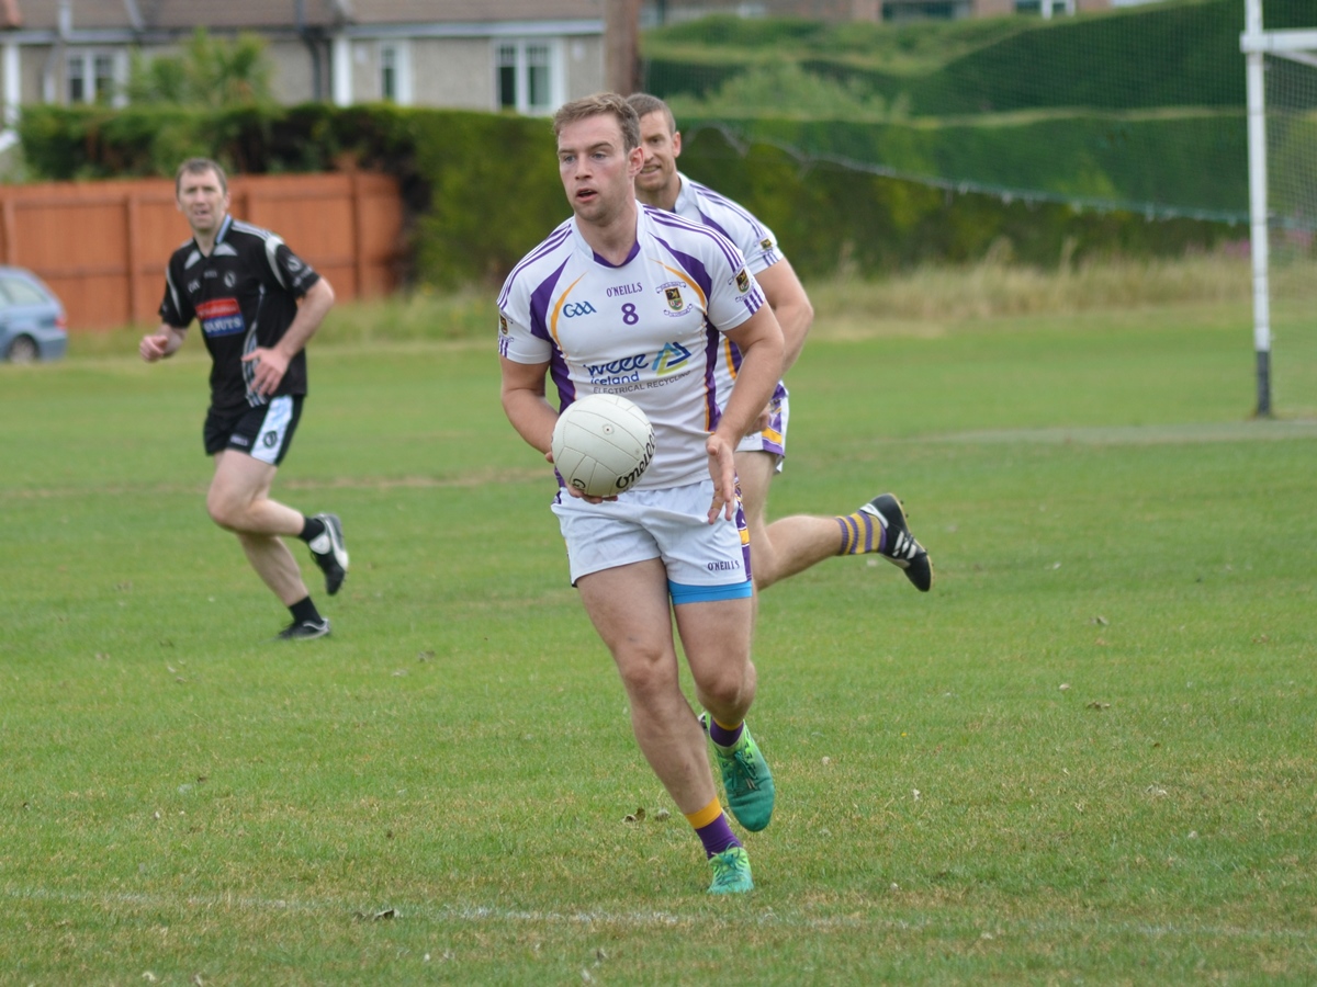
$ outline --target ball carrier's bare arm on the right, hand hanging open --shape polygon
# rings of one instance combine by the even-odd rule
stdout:
[[[727,409],[718,420],[718,428],[705,443],[709,453],[709,475],[714,479],[714,503],[709,508],[709,522],[726,511],[727,520],[736,504],[736,443],[757,420],[760,409],[768,404],[777,382],[782,376],[782,329],[773,309],[760,308],[748,320],[727,333],[727,338],[741,351],[741,366],[732,386]]]

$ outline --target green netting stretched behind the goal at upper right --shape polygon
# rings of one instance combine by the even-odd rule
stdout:
[[[1271,0],[1268,21],[1312,7]],[[1243,0],[918,25],[722,16],[647,32],[644,82],[685,133],[802,162],[1246,224],[1243,24]]]

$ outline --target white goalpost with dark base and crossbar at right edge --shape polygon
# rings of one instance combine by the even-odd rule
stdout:
[[[1312,236],[1313,216],[1303,215],[1304,200],[1299,195],[1283,197],[1283,211],[1268,190],[1268,166],[1275,167],[1276,145],[1268,154],[1267,133],[1267,58],[1317,68],[1317,29],[1266,30],[1262,21],[1262,0],[1245,0],[1245,30],[1239,47],[1246,59],[1249,104],[1249,218],[1250,250],[1252,254],[1252,336],[1258,357],[1258,417],[1271,416],[1271,229],[1272,222],[1292,225]],[[1308,100],[1299,100],[1300,104]],[[1300,109],[1303,107],[1300,105]],[[1297,129],[1303,138],[1304,128]],[[1288,134],[1287,134],[1288,136]],[[1299,141],[1300,146],[1305,141]],[[1314,150],[1308,145],[1308,150]],[[1281,155],[1293,157],[1293,155]],[[1310,158],[1300,154],[1299,157]],[[1310,167],[1310,164],[1309,164]],[[1309,182],[1312,175],[1306,176]],[[1301,179],[1300,179],[1301,180]]]

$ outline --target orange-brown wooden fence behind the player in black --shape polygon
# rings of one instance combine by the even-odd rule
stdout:
[[[341,300],[396,287],[402,197],[387,175],[258,175],[229,180],[234,218],[274,230]],[[59,295],[71,330],[151,325],[169,255],[191,236],[174,183],[141,179],[0,187],[0,263]]]

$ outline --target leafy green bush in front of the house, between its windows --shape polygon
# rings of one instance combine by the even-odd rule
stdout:
[[[232,41],[198,28],[179,55],[133,53],[126,93],[132,103],[223,109],[270,103],[266,42],[255,34]]]

